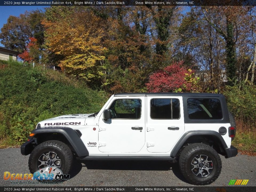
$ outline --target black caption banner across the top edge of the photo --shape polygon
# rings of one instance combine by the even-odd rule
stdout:
[[[256,6],[256,0],[11,0],[0,6]]]

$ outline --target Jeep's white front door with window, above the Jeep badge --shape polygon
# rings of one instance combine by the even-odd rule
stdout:
[[[114,97],[106,109],[112,118],[99,118],[99,151],[139,152],[145,144],[145,96]]]

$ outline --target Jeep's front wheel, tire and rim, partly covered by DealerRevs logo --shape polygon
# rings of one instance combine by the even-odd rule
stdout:
[[[68,174],[73,162],[70,148],[61,141],[50,140],[39,144],[29,156],[29,170],[31,173],[46,168],[57,167],[63,174]]]

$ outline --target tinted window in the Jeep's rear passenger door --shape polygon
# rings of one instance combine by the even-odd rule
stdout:
[[[179,99],[151,99],[151,119],[179,119]]]

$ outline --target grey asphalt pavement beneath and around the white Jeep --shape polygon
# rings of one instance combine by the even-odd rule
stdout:
[[[3,173],[29,173],[29,155],[20,148],[0,149],[0,186],[10,184]],[[247,186],[256,186],[256,157],[238,154],[225,159],[221,156],[222,172],[209,186],[228,186],[231,179],[249,179]],[[33,185],[23,185],[33,186]],[[40,186],[40,185],[34,185]],[[49,185],[41,185],[49,186]],[[181,175],[177,163],[163,161],[84,161],[75,162],[71,179],[51,186],[192,186]]]

